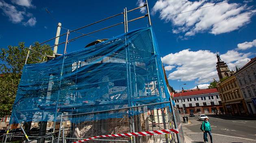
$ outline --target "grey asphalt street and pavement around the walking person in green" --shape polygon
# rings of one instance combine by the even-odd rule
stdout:
[[[213,142],[256,143],[256,120],[214,115],[207,116],[212,128]],[[184,135],[189,137],[192,143],[201,143],[203,141],[203,133],[200,130],[202,122],[198,120],[198,115],[195,115],[195,117],[189,117],[189,123],[182,123]],[[208,139],[210,138],[208,137]]]

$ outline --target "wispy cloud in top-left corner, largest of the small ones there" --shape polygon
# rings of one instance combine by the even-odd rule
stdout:
[[[7,16],[12,23],[20,23],[24,19],[24,11],[17,11],[15,6],[7,4],[2,0],[0,1],[0,8],[3,14]]]

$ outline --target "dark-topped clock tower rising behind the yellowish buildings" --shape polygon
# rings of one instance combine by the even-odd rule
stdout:
[[[216,63],[217,64],[216,67],[217,67],[219,80],[221,80],[222,78],[226,78],[228,76],[232,76],[234,74],[234,71],[230,71],[230,69],[228,68],[228,65],[221,60],[218,54],[217,54],[217,60],[218,62]]]

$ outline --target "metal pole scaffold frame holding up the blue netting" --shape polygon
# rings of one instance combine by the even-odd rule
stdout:
[[[147,10],[147,13],[146,13],[145,15],[143,15],[143,16],[141,16],[141,17],[137,17],[137,18],[135,18],[135,19],[128,20],[128,14],[127,14],[127,13],[132,12],[132,11],[135,11],[135,10],[140,9],[140,8],[143,8],[143,7],[146,7],[146,10]],[[124,16],[124,21],[122,21],[122,22],[120,22],[120,23],[115,23],[115,24],[113,24],[113,25],[110,25],[110,26],[107,26],[107,27],[104,27],[104,28],[101,28],[101,29],[98,29],[98,30],[95,30],[95,31],[93,31],[93,32],[89,32],[89,33],[87,33],[87,34],[82,34],[82,35],[80,35],[80,36],[78,36],[78,37],[75,37],[75,38],[69,39],[69,35],[70,35],[72,32],[77,32],[77,31],[80,30],[80,29],[83,29],[83,28],[85,28],[85,27],[89,27],[89,26],[91,26],[91,25],[94,25],[94,24],[96,24],[96,23],[100,23],[100,22],[102,22],[102,21],[105,21],[105,20],[107,20],[107,19],[111,19],[111,18],[113,18],[113,17],[117,17],[117,16],[119,16],[119,15],[123,15],[123,16]],[[131,10],[127,10],[127,8],[124,8],[124,11],[121,12],[121,13],[118,13],[118,14],[116,14],[116,15],[107,17],[107,18],[105,18],[105,19],[96,21],[96,22],[94,22],[94,23],[91,23],[91,24],[88,24],[88,25],[85,25],[85,26],[79,27],[79,28],[74,29],[74,30],[67,29],[67,32],[65,32],[65,33],[63,33],[63,34],[60,34],[61,23],[58,23],[56,36],[55,36],[54,38],[51,38],[51,39],[46,40],[46,41],[44,41],[44,42],[41,42],[41,43],[39,43],[39,44],[37,44],[37,45],[35,45],[35,46],[30,45],[30,47],[29,47],[29,49],[28,49],[27,56],[26,56],[25,65],[27,64],[28,58],[31,58],[32,55],[37,54],[37,53],[42,56],[43,61],[44,61],[45,57],[48,56],[48,55],[42,54],[42,52],[43,52],[44,50],[47,50],[47,49],[50,49],[50,48],[54,48],[54,52],[53,52],[53,55],[52,55],[52,57],[54,58],[54,57],[56,56],[56,54],[57,54],[57,48],[58,48],[58,46],[61,45],[61,44],[65,44],[65,48],[64,48],[64,52],[63,52],[63,54],[65,55],[65,54],[67,54],[67,44],[69,44],[70,42],[73,42],[74,40],[76,40],[76,39],[78,39],[78,38],[81,38],[81,37],[83,37],[83,36],[89,36],[90,34],[93,34],[93,33],[95,33],[95,32],[100,32],[100,31],[102,31],[102,30],[104,30],[104,29],[108,29],[108,28],[111,28],[111,27],[114,27],[114,26],[117,26],[117,25],[124,24],[124,33],[127,33],[127,32],[128,32],[128,23],[129,23],[129,22],[136,21],[136,20],[138,20],[138,19],[142,19],[142,18],[145,18],[145,17],[148,17],[148,24],[151,26],[152,23],[151,23],[151,20],[150,20],[150,13],[149,13],[148,1],[147,1],[147,0],[146,0],[146,3],[145,3],[143,6],[139,6],[139,7],[137,7],[137,8],[133,8],[133,9],[131,9]],[[59,43],[59,38],[60,38],[61,36],[66,36],[66,40]],[[128,37],[127,37],[126,39],[128,39]],[[45,44],[45,43],[47,43],[47,42],[50,42],[51,40],[55,40],[55,43],[54,43],[53,46],[49,46],[48,48],[45,48],[45,49],[39,50],[39,51],[35,51],[35,50],[33,49],[33,48],[35,48],[36,46]],[[128,85],[128,87],[127,87],[127,94],[128,94],[129,107],[126,107],[126,108],[119,108],[119,109],[113,109],[113,110],[104,110],[104,111],[87,112],[87,113],[82,113],[82,114],[69,114],[69,115],[63,115],[63,114],[62,114],[62,115],[61,115],[61,122],[60,122],[59,131],[55,132],[55,130],[56,130],[56,118],[57,118],[57,117],[56,117],[56,116],[57,116],[57,107],[58,107],[59,94],[60,94],[60,93],[59,93],[59,94],[58,94],[58,98],[57,98],[56,108],[55,108],[54,123],[53,123],[53,131],[52,131],[52,133],[51,133],[50,135],[46,135],[46,136],[43,136],[43,137],[39,137],[39,138],[30,140],[29,137],[26,135],[26,132],[24,131],[24,128],[23,128],[22,125],[19,123],[19,124],[20,124],[20,127],[22,128],[22,131],[24,132],[24,136],[25,136],[26,139],[27,139],[27,142],[26,142],[26,143],[31,142],[31,141],[35,141],[35,140],[38,140],[38,139],[41,139],[41,138],[44,138],[44,137],[50,137],[50,136],[52,137],[52,143],[54,143],[54,136],[55,136],[56,133],[59,133],[59,134],[58,134],[58,137],[57,137],[57,143],[59,143],[59,140],[60,140],[60,137],[61,137],[61,132],[62,132],[62,135],[63,135],[63,137],[62,137],[62,142],[63,142],[63,143],[64,143],[64,139],[79,139],[79,138],[68,138],[68,137],[65,138],[65,137],[64,137],[64,128],[62,128],[62,130],[61,130],[61,123],[62,123],[63,117],[65,117],[65,116],[85,115],[85,114],[96,114],[96,113],[100,113],[100,112],[114,111],[114,110],[121,110],[121,109],[129,109],[129,111],[133,111],[133,110],[135,111],[136,108],[138,108],[138,107],[143,107],[143,106],[147,106],[147,105],[157,105],[157,104],[163,104],[163,103],[170,103],[170,104],[171,104],[171,105],[170,105],[170,106],[171,106],[171,115],[168,114],[168,115],[166,116],[165,113],[164,113],[164,109],[165,109],[166,111],[170,112],[168,106],[167,106],[167,107],[164,107],[164,108],[161,108],[161,113],[162,113],[162,115],[158,115],[158,111],[157,111],[157,115],[158,115],[158,116],[157,116],[157,118],[158,118],[158,124],[159,124],[159,117],[162,116],[161,118],[162,118],[162,120],[163,120],[164,129],[167,129],[166,124],[167,124],[171,119],[173,119],[173,120],[171,120],[171,122],[169,122],[169,124],[167,124],[168,127],[169,127],[169,128],[173,128],[173,126],[172,126],[172,122],[173,122],[175,129],[177,129],[178,126],[177,126],[177,124],[176,124],[175,113],[174,113],[174,109],[173,109],[173,105],[172,105],[171,99],[170,99],[170,101],[165,101],[165,102],[164,102],[164,101],[161,100],[160,103],[152,103],[152,104],[147,104],[147,105],[138,105],[138,104],[133,105],[133,104],[129,101],[129,100],[131,99],[131,95],[132,95],[132,94],[134,94],[135,96],[137,95],[137,91],[135,91],[135,93],[132,93],[131,76],[136,76],[136,71],[131,72],[130,66],[134,65],[134,64],[132,64],[132,62],[135,62],[135,61],[130,60],[130,55],[129,55],[130,53],[128,52],[129,50],[130,50],[129,47],[126,46],[126,55],[125,55],[125,57],[126,57],[126,59],[125,59],[125,60],[126,60],[126,64],[125,64],[125,65],[126,65],[127,79],[129,79],[129,80],[127,80],[127,82],[128,82],[128,83],[127,83],[127,85]],[[154,51],[154,52],[155,52],[155,51]],[[65,56],[64,56],[64,58],[63,58],[63,63],[64,63],[64,59],[65,59]],[[62,73],[62,70],[63,70],[63,63],[62,63],[61,73]],[[156,64],[156,68],[157,68],[158,66],[157,66],[157,59],[156,59],[156,57],[155,57],[155,64]],[[135,69],[135,68],[134,68],[134,69]],[[156,71],[158,71],[158,68],[156,69]],[[131,75],[132,73],[134,73],[135,75]],[[62,76],[62,74],[61,74],[61,76]],[[60,77],[60,79],[61,79],[61,78],[62,78],[62,77]],[[163,93],[161,93],[161,87],[160,87],[160,85],[159,85],[159,83],[160,83],[161,81],[160,81],[159,79],[160,79],[160,78],[159,78],[159,75],[158,75],[158,72],[157,72],[158,87],[156,87],[156,85],[155,85],[155,86],[154,86],[154,87],[155,87],[154,90],[155,90],[156,94],[158,94],[160,97],[162,97],[161,94],[163,94]],[[154,82],[154,84],[155,84],[155,82]],[[135,85],[135,86],[137,86],[137,85]],[[61,80],[60,80],[60,83],[59,83],[59,88],[60,88],[60,87],[61,87]],[[51,89],[50,89],[50,90],[51,90]],[[47,92],[49,92],[50,90],[48,90]],[[158,92],[157,92],[157,91],[158,91]],[[154,110],[151,110],[150,112],[154,114]],[[139,116],[136,116],[136,117],[129,116],[130,132],[135,132],[135,118],[139,120],[140,117],[139,117]],[[166,122],[166,118],[168,119],[168,122]],[[152,123],[151,123],[151,124],[152,124],[152,129],[154,129],[153,126],[154,126],[155,123],[153,122],[152,116],[151,116],[151,122],[152,122]],[[8,136],[10,136],[10,135],[9,135],[10,126],[11,126],[11,123],[10,123],[9,126],[8,126],[7,134],[5,135],[4,143],[7,142]],[[159,126],[159,125],[158,125],[158,126]],[[159,126],[159,128],[160,128],[160,126]],[[174,134],[171,135],[171,136],[174,137]],[[11,137],[11,136],[10,136],[10,137]],[[155,136],[153,136],[153,138],[154,138],[154,141],[155,141]],[[178,143],[181,143],[180,137],[179,137],[178,133],[176,133],[176,139],[177,139]],[[96,140],[97,140],[97,139],[95,139],[95,141],[96,141]],[[99,141],[103,141],[103,140],[99,140]],[[113,141],[113,140],[104,140],[104,141]],[[118,140],[114,140],[114,141],[118,141]],[[126,141],[124,141],[124,140],[120,140],[120,141],[126,142]],[[139,140],[136,140],[135,137],[131,137],[129,141],[130,141],[130,143],[141,143],[141,138],[140,138]],[[166,141],[166,142],[169,142],[169,139],[168,139],[167,134],[165,134],[165,141]],[[170,141],[171,141],[171,142],[174,142],[175,139],[170,139]]]

